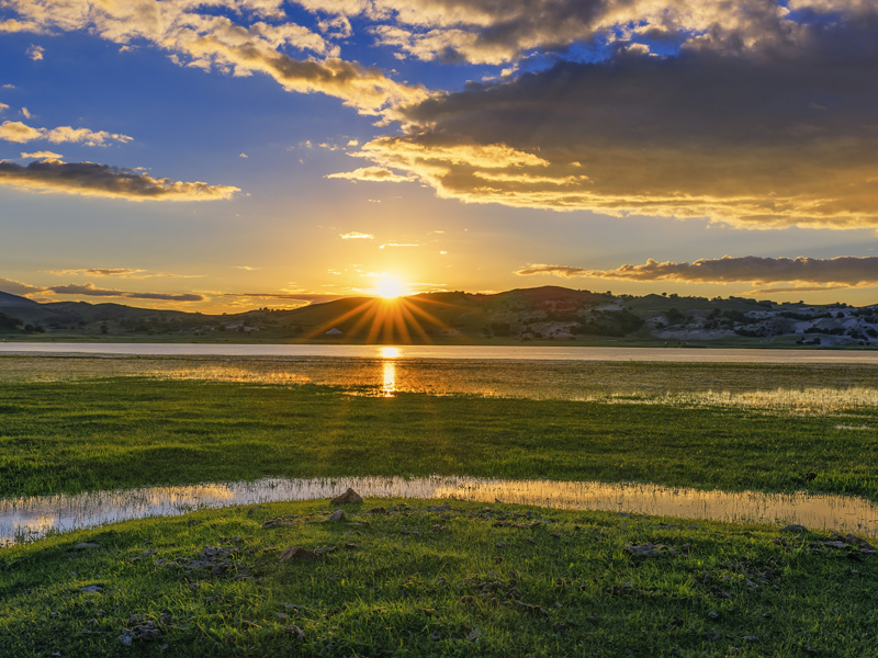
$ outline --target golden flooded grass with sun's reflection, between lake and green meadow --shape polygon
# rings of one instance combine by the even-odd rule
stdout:
[[[0,383],[126,376],[314,384],[378,397],[417,393],[814,413],[878,408],[875,365],[425,360],[385,350],[381,359],[0,355]]]

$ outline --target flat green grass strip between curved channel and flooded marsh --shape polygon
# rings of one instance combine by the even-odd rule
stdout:
[[[878,499],[878,413],[120,377],[0,384],[0,496],[266,475],[640,480]]]

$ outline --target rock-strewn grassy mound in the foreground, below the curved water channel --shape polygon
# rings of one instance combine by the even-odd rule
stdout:
[[[277,503],[5,548],[0,655],[875,651],[878,557],[853,537],[436,504],[330,521],[327,501]]]

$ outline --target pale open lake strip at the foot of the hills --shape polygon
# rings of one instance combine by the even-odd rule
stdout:
[[[389,350],[392,351],[391,354],[389,354]],[[856,363],[878,365],[878,350],[772,350],[743,348],[0,342],[0,353],[105,354],[114,356],[209,355],[477,359],[488,361],[642,361],[664,363]]]

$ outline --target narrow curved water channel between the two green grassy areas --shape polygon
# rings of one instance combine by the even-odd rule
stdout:
[[[649,484],[505,480],[430,476],[263,478],[255,481],[143,487],[0,499],[0,546],[49,533],[199,509],[333,498],[352,487],[364,498],[448,498],[565,510],[702,519],[856,533],[878,537],[878,504],[863,498],[758,491],[703,491]]]

